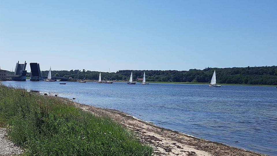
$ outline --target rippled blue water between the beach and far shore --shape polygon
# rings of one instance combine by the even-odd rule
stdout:
[[[150,83],[2,81],[118,109],[199,138],[277,155],[277,88]],[[238,142],[236,142],[238,141]]]

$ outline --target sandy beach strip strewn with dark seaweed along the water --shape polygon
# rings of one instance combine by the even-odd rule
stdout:
[[[227,146],[165,129],[115,109],[99,108],[70,101],[72,105],[97,116],[106,116],[136,132],[141,142],[150,144],[156,155],[261,156],[264,154]]]

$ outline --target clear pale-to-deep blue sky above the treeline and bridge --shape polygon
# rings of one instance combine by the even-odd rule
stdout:
[[[277,1],[0,1],[0,66],[189,70],[277,65]]]

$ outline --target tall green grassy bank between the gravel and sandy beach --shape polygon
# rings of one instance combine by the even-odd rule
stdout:
[[[151,155],[152,148],[109,118],[58,97],[0,85],[0,126],[23,155]]]

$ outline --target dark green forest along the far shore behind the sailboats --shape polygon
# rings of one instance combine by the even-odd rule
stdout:
[[[213,72],[216,70],[217,83],[235,84],[263,84],[277,85],[277,66],[262,67],[233,67],[233,68],[210,68],[203,70],[190,69],[188,71],[177,70],[145,70],[146,81],[166,81],[166,82],[210,82]],[[133,79],[142,78],[144,70],[119,70],[110,73],[111,80],[129,80],[131,71]],[[48,75],[48,71],[42,71],[43,76]],[[109,73],[101,72],[102,79],[108,80]],[[98,79],[98,71],[89,70],[61,70],[52,71],[52,76],[72,77],[73,79]]]

